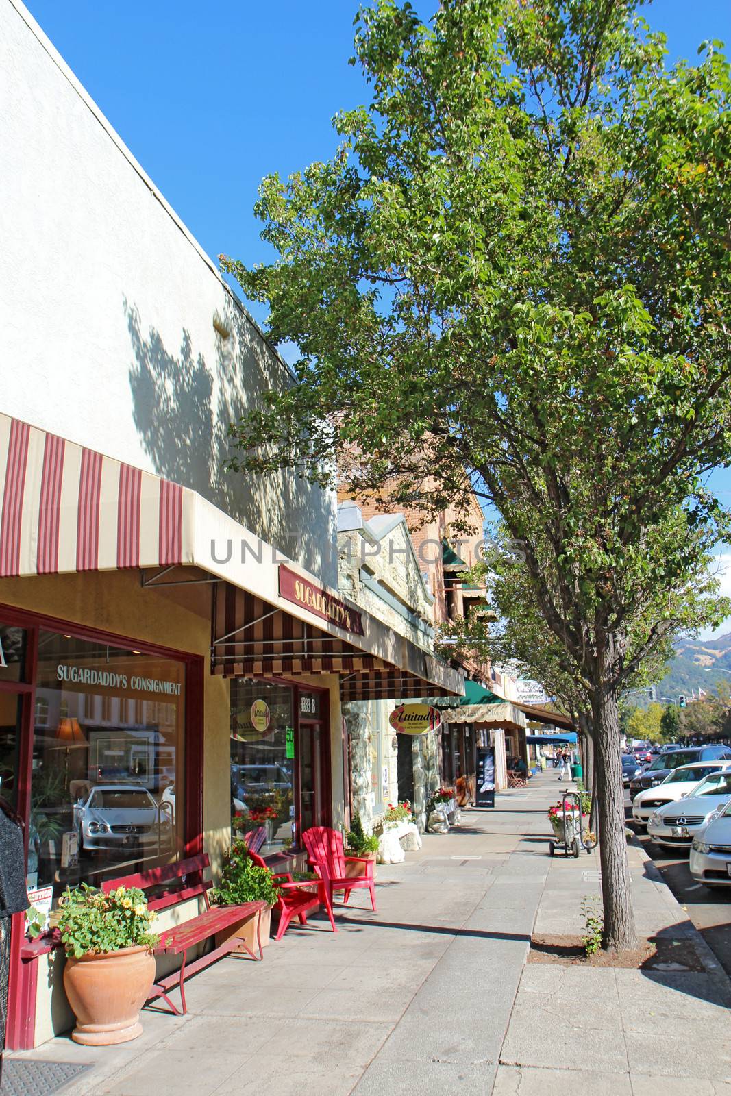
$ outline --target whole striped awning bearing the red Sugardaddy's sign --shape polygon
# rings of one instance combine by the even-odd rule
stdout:
[[[215,673],[335,673],[344,700],[462,693],[461,674],[195,491],[0,414],[0,578],[125,568],[148,587],[215,584]]]

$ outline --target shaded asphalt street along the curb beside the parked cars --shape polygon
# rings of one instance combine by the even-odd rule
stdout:
[[[625,796],[627,819],[631,819],[629,792]],[[731,974],[731,887],[728,891],[710,891],[694,882],[688,871],[688,854],[663,848],[650,841],[646,830],[635,830],[648,856],[662,872],[673,894],[723,967]]]

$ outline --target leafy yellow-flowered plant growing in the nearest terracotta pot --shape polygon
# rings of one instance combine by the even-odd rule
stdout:
[[[66,954],[80,959],[122,948],[145,947],[151,951],[160,937],[150,932],[157,914],[136,887],[117,887],[104,894],[82,883],[66,889],[59,899],[58,928]]]

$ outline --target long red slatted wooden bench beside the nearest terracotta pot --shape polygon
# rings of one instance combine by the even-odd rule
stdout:
[[[242,905],[212,906],[208,899],[208,891],[213,883],[204,879],[204,874],[208,867],[208,856],[203,853],[199,856],[191,856],[186,860],[179,860],[176,864],[167,864],[161,868],[150,868],[149,871],[142,871],[135,876],[107,879],[102,883],[102,890],[105,894],[108,894],[112,890],[116,890],[117,887],[138,887],[142,891],[152,891],[148,895],[147,902],[150,910],[168,910],[170,906],[179,905],[187,899],[203,897],[206,903],[204,912],[191,917],[190,921],[184,921],[182,924],[175,925],[174,928],[161,929],[160,943],[155,949],[156,955],[182,955],[183,957],[180,970],[156,982],[152,986],[152,993],[147,998],[149,1003],[150,1001],[156,1001],[158,997],[162,997],[170,1005],[175,1016],[182,1016],[187,1011],[184,987],[186,978],[203,970],[204,967],[209,967],[217,959],[222,959],[224,956],[229,955],[239,946],[242,946],[251,958],[258,962],[263,959],[262,941],[259,935],[260,918],[258,914],[266,910],[266,902],[245,902]],[[229,928],[231,925],[250,921],[251,917],[256,917],[259,959],[256,959],[254,952],[240,936],[231,935],[228,940],[219,947],[214,948],[213,951],[201,956],[201,958],[195,959],[191,963],[186,963],[189,948],[209,939],[212,936],[215,937],[217,933]],[[180,998],[183,1005],[182,1013],[168,996],[168,991],[175,986],[180,989]]]

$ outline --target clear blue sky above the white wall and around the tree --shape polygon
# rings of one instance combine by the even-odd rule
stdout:
[[[26,3],[210,255],[270,259],[252,212],[262,175],[330,156],[330,118],[368,98],[347,64],[351,0]],[[414,5],[427,15],[436,0]],[[731,0],[654,0],[643,14],[666,33],[671,60],[694,59],[705,38],[731,50]],[[731,471],[711,482],[731,506]],[[731,553],[723,566],[731,594]]]

